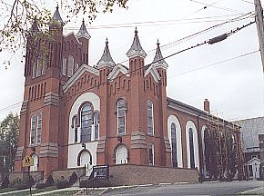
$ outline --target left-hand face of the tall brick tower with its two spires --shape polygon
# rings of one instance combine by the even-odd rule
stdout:
[[[45,37],[34,21],[26,43],[25,93],[21,108],[15,171],[23,171],[25,155],[34,159],[31,171],[58,167],[61,50],[64,22],[58,6]]]

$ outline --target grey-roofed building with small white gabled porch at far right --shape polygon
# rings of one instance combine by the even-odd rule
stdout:
[[[243,138],[246,171],[249,179],[259,179],[259,135],[264,134],[264,117],[239,121]]]

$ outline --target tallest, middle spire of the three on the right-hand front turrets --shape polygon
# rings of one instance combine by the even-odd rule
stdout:
[[[138,32],[137,32],[137,27],[136,27],[133,43],[132,43],[130,49],[127,51],[127,57],[128,58],[132,58],[135,56],[140,56],[140,57],[145,58],[147,56],[147,54],[145,53],[145,51],[143,50],[143,48],[139,42],[137,33]]]

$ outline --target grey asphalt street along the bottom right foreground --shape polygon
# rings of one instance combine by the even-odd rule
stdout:
[[[111,190],[103,195],[264,195],[263,187],[264,181],[218,181],[197,184],[137,186]]]

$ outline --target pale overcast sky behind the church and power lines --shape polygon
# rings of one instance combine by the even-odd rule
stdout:
[[[54,12],[56,3],[46,2]],[[145,63],[149,64],[155,55],[157,39],[164,57],[175,54],[254,21],[253,17],[241,19],[242,15],[254,12],[252,3],[253,0],[129,0],[127,9],[115,6],[113,13],[97,15],[92,24],[85,17],[91,35],[89,64],[100,59],[107,38],[116,64],[128,65],[126,53],[136,26],[147,52]],[[66,18],[64,10],[60,9],[60,13]],[[219,25],[237,17],[241,20]],[[82,18],[82,15],[73,18],[64,33],[76,33]],[[214,25],[218,27],[188,37]],[[211,113],[229,121],[263,116],[264,73],[258,51],[257,27],[253,24],[217,44],[204,44],[169,57],[168,97],[201,110],[208,99]],[[11,64],[5,70],[5,61],[9,59]],[[20,111],[25,83],[21,60],[21,52],[0,53],[0,120],[10,112]]]

